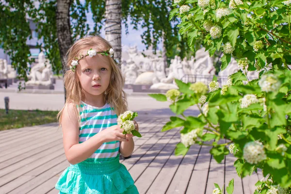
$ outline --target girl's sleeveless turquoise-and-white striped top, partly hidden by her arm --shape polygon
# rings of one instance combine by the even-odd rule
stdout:
[[[79,144],[90,139],[98,132],[117,125],[117,115],[113,108],[106,103],[103,107],[94,107],[81,101],[78,106],[81,115]],[[102,144],[86,161],[104,162],[113,160],[119,153],[119,141]]]

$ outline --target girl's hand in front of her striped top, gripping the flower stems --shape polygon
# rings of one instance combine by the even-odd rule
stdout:
[[[102,130],[101,135],[103,142],[113,142],[113,141],[121,141],[128,142],[128,138],[125,134],[122,133],[123,129],[120,129],[119,125],[111,126],[105,130]]]

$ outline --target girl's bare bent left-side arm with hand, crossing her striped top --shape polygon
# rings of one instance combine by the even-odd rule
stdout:
[[[101,131],[79,144],[79,118],[73,103],[65,106],[62,115],[63,142],[65,156],[71,164],[82,162],[89,158],[104,142],[127,141],[122,129],[112,126]]]

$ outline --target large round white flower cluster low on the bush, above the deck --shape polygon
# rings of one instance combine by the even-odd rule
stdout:
[[[264,146],[260,142],[249,142],[243,147],[243,159],[250,164],[266,160]]]

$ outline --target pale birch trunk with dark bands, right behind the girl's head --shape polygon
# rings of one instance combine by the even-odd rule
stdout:
[[[121,0],[106,0],[105,39],[114,49],[114,59],[121,62]]]

